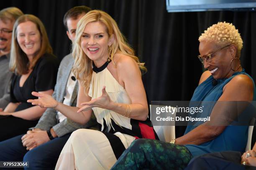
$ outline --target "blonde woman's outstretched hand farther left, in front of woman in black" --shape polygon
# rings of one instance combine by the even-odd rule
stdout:
[[[54,98],[51,95],[47,95],[39,92],[32,92],[32,95],[38,97],[38,99],[27,100],[27,102],[31,102],[32,105],[38,105],[41,108],[44,108],[44,107],[55,108],[58,105],[58,102],[54,100]]]

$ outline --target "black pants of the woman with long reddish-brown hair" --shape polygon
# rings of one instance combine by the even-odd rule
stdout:
[[[0,141],[27,133],[28,128],[36,126],[38,120],[24,120],[12,115],[0,115]]]

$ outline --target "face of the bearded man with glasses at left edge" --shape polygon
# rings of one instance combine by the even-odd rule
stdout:
[[[12,31],[14,22],[11,20],[0,20],[0,50],[10,51]]]

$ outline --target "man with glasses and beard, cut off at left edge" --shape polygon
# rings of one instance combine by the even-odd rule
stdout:
[[[10,102],[10,80],[13,74],[9,71],[12,32],[15,20],[21,15],[23,13],[17,7],[0,11],[0,111]]]

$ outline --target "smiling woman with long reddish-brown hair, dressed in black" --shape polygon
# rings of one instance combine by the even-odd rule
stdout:
[[[46,108],[33,106],[37,90],[51,95],[56,84],[59,61],[52,54],[43,23],[34,15],[21,15],[13,26],[10,70],[15,73],[10,103],[0,112],[0,141],[26,133],[35,126]]]

